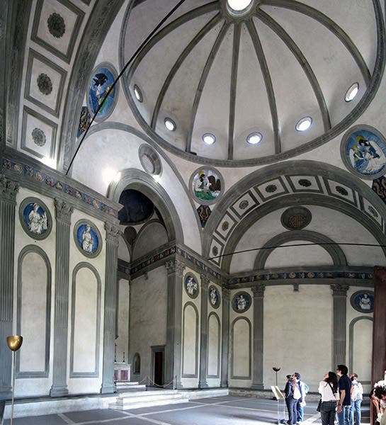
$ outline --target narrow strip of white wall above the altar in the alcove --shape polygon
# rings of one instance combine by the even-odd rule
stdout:
[[[117,362],[129,361],[129,309],[130,309],[130,283],[126,279],[118,282],[118,338],[115,339],[115,355]]]

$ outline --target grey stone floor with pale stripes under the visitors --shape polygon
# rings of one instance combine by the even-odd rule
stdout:
[[[321,424],[316,402],[307,403],[303,425]],[[368,408],[364,407],[364,419]],[[285,412],[285,417],[286,412]],[[259,425],[279,424],[283,401],[235,396],[196,399],[187,403],[118,411],[88,410],[13,419],[14,425]],[[366,425],[368,420],[362,421]],[[10,421],[5,420],[4,425]]]

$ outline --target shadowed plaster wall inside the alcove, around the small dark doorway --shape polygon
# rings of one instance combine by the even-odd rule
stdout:
[[[149,271],[147,278],[140,276],[130,283],[130,356],[141,357],[140,375],[132,373],[132,381],[152,377],[152,346],[166,345],[167,276],[161,266]]]

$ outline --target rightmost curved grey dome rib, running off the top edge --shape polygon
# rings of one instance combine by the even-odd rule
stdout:
[[[356,45],[353,43],[350,37],[345,33],[345,31],[336,24],[336,22],[332,21],[327,15],[324,15],[321,11],[317,11],[317,9],[308,6],[307,4],[300,3],[299,1],[285,1],[285,0],[261,0],[261,4],[265,4],[268,6],[276,6],[282,8],[288,8],[291,11],[300,12],[303,15],[309,16],[310,18],[315,19],[323,26],[325,26],[331,33],[333,33],[336,38],[343,43],[348,52],[350,52],[353,60],[355,60],[359,69],[361,70],[361,74],[363,79],[365,80],[366,86],[370,83],[371,74],[368,69],[368,66],[359,52]]]

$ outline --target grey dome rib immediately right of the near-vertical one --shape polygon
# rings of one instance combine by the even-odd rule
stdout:
[[[278,119],[278,108],[276,106],[276,98],[275,98],[275,93],[273,91],[271,75],[269,73],[268,64],[266,62],[266,57],[263,52],[263,46],[261,45],[259,34],[256,31],[256,27],[254,26],[254,23],[252,21],[246,21],[246,27],[248,28],[249,34],[251,35],[251,40],[254,44],[256,56],[259,60],[261,72],[263,74],[263,79],[266,84],[269,108],[271,110],[275,154],[280,154],[281,152],[280,125],[279,125],[279,119]]]

